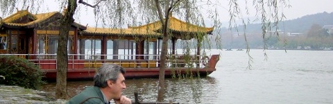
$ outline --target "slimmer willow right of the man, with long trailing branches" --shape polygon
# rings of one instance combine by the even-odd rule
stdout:
[[[246,11],[246,15],[249,14],[248,12],[248,1],[251,0],[244,0],[246,2],[246,6],[244,7],[244,10]],[[159,19],[159,21],[162,24],[162,51],[160,55],[160,75],[159,75],[159,85],[158,85],[158,97],[157,101],[162,101],[163,94],[164,94],[164,70],[165,70],[165,59],[167,56],[167,46],[168,46],[168,40],[170,37],[172,37],[172,33],[168,30],[169,26],[169,17],[170,15],[176,15],[177,17],[181,19],[185,19],[185,21],[189,22],[191,21],[193,24],[197,24],[199,26],[205,26],[205,21],[203,21],[203,15],[200,12],[200,9],[207,9],[207,6],[213,6],[214,8],[212,10],[208,10],[205,12],[205,15],[209,15],[210,18],[214,24],[214,28],[219,28],[219,15],[217,13],[217,8],[219,8],[219,2],[218,1],[210,1],[210,0],[140,0],[139,7],[142,11],[142,14],[149,15],[150,17],[143,17],[143,19]],[[284,8],[285,6],[288,6],[287,3],[285,3],[284,0],[278,1],[278,0],[269,0],[269,1],[263,1],[263,0],[252,0],[252,5],[255,7],[257,20],[261,20],[262,22],[262,38],[265,39],[267,33],[266,30],[270,30],[271,28],[275,28],[275,30],[278,30],[278,21],[281,21],[284,19],[283,12],[281,13],[278,10],[279,6],[282,6]],[[206,6],[203,7],[203,6]],[[221,7],[220,7],[221,8]],[[236,20],[242,19],[244,28],[246,28],[246,22],[244,21],[243,12],[241,12],[242,7],[239,5],[239,1],[237,0],[229,0],[229,12],[230,12],[230,28],[236,27]],[[260,18],[260,19],[259,19]],[[273,24],[271,24],[271,22]],[[233,25],[234,24],[234,25]],[[245,30],[245,29],[244,29]],[[216,34],[219,34],[216,32]],[[246,33],[244,32],[245,40],[246,40]],[[200,40],[203,38],[204,35],[199,35],[196,37],[196,40]],[[219,41],[217,41],[219,42]],[[246,41],[247,42],[247,41]],[[209,43],[209,42],[206,42]],[[265,49],[266,49],[266,42],[265,43]],[[202,46],[200,41],[198,41],[198,46]],[[220,46],[220,43],[216,43],[216,46]],[[189,50],[189,47],[186,47],[187,51]],[[250,50],[248,47],[248,44],[246,46],[246,52],[248,53]],[[187,52],[189,53],[189,52]],[[265,53],[266,55],[266,53]],[[248,53],[249,56],[249,62],[252,61],[252,57]],[[250,63],[249,63],[250,66]]]

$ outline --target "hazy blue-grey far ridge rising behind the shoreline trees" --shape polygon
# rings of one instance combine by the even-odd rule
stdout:
[[[280,21],[279,28],[288,33],[307,33],[307,30],[312,24],[319,24],[320,26],[333,24],[333,12],[321,12],[314,15],[305,15],[297,19],[290,19],[286,21]],[[239,31],[244,31],[243,26],[238,26]],[[227,31],[226,28],[221,28],[221,31]],[[261,24],[248,24],[246,26],[246,33],[258,33],[261,32]]]

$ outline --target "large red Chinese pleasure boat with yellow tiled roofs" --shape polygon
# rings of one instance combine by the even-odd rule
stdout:
[[[19,10],[0,21],[0,55],[26,58],[42,69],[46,80],[55,80],[61,12],[33,15]],[[50,25],[53,24],[53,25]],[[126,78],[158,78],[162,47],[160,21],[128,28],[94,28],[74,22],[69,28],[67,79],[92,79],[102,64],[119,64]],[[165,76],[193,73],[207,76],[215,71],[219,55],[204,55],[198,44],[189,55],[176,53],[177,40],[196,40],[198,35],[212,35],[214,28],[189,24],[170,17],[173,33],[167,55]],[[200,42],[197,40],[197,42]]]

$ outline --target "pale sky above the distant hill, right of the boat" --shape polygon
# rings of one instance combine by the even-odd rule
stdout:
[[[255,17],[255,8],[253,6],[249,6],[252,4],[253,0],[248,1],[248,8],[250,15],[246,15],[246,10],[245,10],[245,1],[244,0],[239,0],[241,8],[243,10],[243,17],[246,18],[249,17],[251,20]],[[264,0],[265,1],[265,0]],[[286,0],[287,1],[287,0]],[[230,17],[228,10],[225,8],[229,8],[229,0],[220,0],[222,8],[219,9],[219,15],[220,15],[220,20],[223,23],[228,23]],[[279,12],[283,12],[285,17],[287,18],[286,20],[289,19],[297,19],[298,17],[302,17],[305,15],[314,15],[316,13],[320,12],[333,12],[333,1],[332,0],[289,0],[289,5],[291,6],[290,8],[279,8]],[[237,23],[239,24],[239,23]],[[223,26],[228,27],[229,24],[223,24]]]

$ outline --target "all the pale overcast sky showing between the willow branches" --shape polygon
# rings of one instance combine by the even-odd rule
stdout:
[[[85,0],[87,1],[87,0]],[[90,2],[92,0],[89,0]],[[218,1],[221,6],[218,6],[219,11],[219,19],[221,22],[228,21],[230,19],[229,13],[228,13],[228,3],[229,0],[219,0]],[[239,5],[241,8],[245,8],[242,6],[244,4],[244,0],[239,0],[241,2]],[[248,5],[252,4],[252,0],[248,1]],[[305,15],[313,15],[318,12],[333,12],[333,1],[332,0],[289,0],[289,4],[291,5],[291,8],[280,8],[280,11],[284,12],[284,15],[287,17],[287,19],[296,19],[298,17],[302,17]],[[80,7],[82,4],[79,4]],[[242,10],[243,17],[254,17],[255,15],[255,9],[250,8],[250,15],[245,15],[245,10]],[[61,10],[60,6],[54,2],[54,0],[46,0],[44,1],[44,6],[41,7],[40,12],[51,12],[51,11],[57,11]],[[79,15],[76,15],[74,18],[76,18],[76,22],[86,25],[89,24],[89,26],[93,26],[95,24],[94,22],[94,16],[92,15],[92,8],[81,8],[80,10],[76,11],[79,12]],[[0,12],[1,17],[3,16]]]

